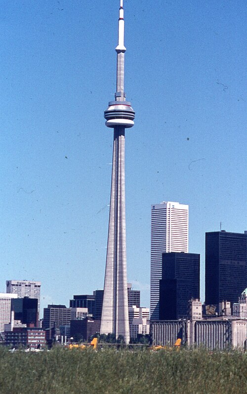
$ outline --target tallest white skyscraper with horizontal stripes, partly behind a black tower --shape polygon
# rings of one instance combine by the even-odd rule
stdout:
[[[188,253],[189,206],[163,201],[151,206],[150,319],[159,319],[162,253]]]

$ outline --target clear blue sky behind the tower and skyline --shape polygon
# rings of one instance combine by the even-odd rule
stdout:
[[[127,277],[149,306],[151,204],[205,232],[247,230],[245,0],[124,0]],[[41,308],[103,288],[119,0],[1,0],[0,291],[41,281]]]

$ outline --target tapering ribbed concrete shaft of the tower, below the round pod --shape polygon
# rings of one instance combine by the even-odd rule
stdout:
[[[113,169],[101,333],[129,341],[126,274],[124,127],[114,128]]]

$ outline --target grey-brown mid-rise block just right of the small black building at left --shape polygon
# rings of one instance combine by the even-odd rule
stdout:
[[[55,328],[59,330],[60,326],[70,324],[71,308],[66,308],[65,305],[48,305],[44,308],[43,314],[43,328]]]

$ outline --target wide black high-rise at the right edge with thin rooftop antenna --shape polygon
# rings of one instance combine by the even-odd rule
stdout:
[[[205,302],[238,302],[247,287],[247,234],[206,233]]]

